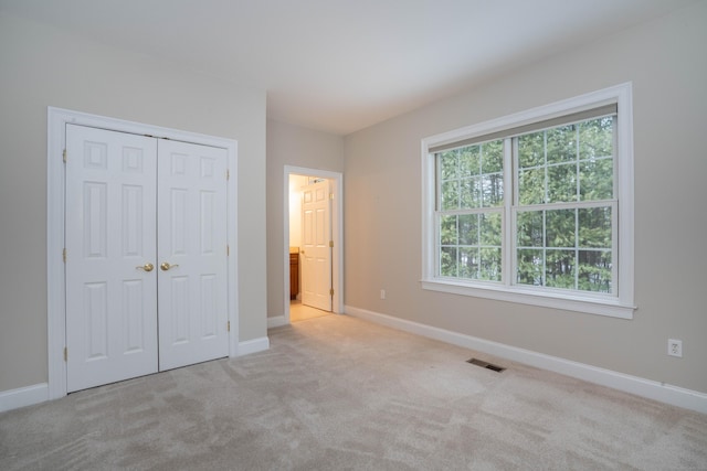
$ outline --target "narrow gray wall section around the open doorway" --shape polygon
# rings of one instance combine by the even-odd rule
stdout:
[[[283,189],[285,165],[344,171],[344,138],[327,132],[267,120],[267,314],[283,315]],[[288,211],[289,208],[287,208]]]

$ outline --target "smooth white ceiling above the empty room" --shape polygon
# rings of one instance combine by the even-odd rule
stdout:
[[[0,0],[0,11],[267,90],[346,135],[695,0]]]

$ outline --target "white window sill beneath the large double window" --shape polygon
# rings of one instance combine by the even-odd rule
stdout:
[[[538,306],[542,308],[561,309],[566,311],[583,312],[588,314],[606,315],[620,319],[633,319],[636,309],[631,304],[622,304],[618,299],[583,297],[553,291],[537,292],[518,287],[469,286],[447,280],[422,280],[422,288],[449,292],[453,295],[472,296],[475,298],[494,299],[497,301],[516,302],[520,304]]]

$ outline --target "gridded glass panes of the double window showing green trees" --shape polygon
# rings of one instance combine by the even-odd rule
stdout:
[[[612,293],[614,128],[610,116],[439,152],[440,275],[503,282],[511,254],[506,283]]]

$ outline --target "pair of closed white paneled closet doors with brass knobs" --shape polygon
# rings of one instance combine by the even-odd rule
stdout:
[[[67,125],[66,154],[67,390],[226,356],[225,150]]]

